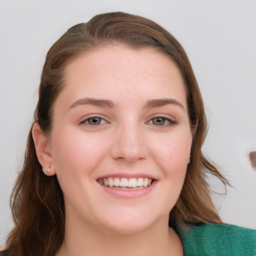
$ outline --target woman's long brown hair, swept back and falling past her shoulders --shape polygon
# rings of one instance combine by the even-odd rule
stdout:
[[[169,213],[169,226],[221,223],[205,176],[213,174],[224,185],[227,180],[201,153],[207,130],[201,94],[183,47],[155,22],[137,15],[112,12],[96,15],[86,23],[69,28],[47,52],[34,122],[38,122],[43,132],[50,132],[52,106],[63,88],[65,67],[70,61],[86,51],[116,43],[131,49],[152,47],[162,52],[174,61],[183,78],[193,140],[184,184]],[[9,255],[55,255],[64,237],[63,194],[56,175],[46,176],[42,172],[31,130],[10,203],[15,225],[6,241]]]

